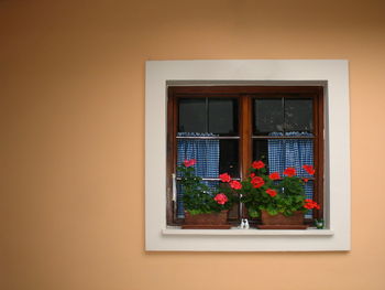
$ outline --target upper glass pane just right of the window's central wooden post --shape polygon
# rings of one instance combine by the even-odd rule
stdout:
[[[284,111],[282,98],[254,99],[254,135],[268,135],[284,130]]]

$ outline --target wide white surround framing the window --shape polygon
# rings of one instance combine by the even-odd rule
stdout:
[[[166,225],[168,85],[323,85],[326,229],[179,229]],[[350,250],[349,71],[344,60],[148,61],[145,79],[145,249]]]

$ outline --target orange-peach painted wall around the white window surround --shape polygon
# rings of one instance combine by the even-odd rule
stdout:
[[[385,289],[384,3],[1,0],[0,289]],[[144,251],[144,62],[197,58],[350,61],[352,251]]]

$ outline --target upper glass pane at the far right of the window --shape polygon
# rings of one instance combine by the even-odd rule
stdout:
[[[285,131],[312,132],[311,98],[285,98]]]

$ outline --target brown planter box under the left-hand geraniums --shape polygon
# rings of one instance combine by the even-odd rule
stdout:
[[[182,228],[230,228],[228,224],[229,211],[212,214],[191,215],[185,212],[185,223]]]

